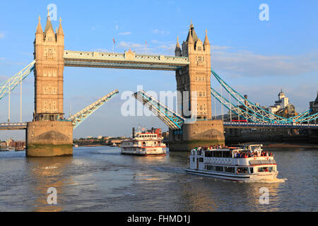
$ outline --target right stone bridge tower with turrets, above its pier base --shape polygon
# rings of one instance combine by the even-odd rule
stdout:
[[[182,51],[177,47],[175,55],[189,57],[190,61],[189,66],[176,71],[177,90],[182,93],[182,98],[178,100],[179,109],[182,109],[180,114],[185,118],[211,119],[211,45],[207,31],[202,43],[191,23],[187,40],[182,43]],[[193,96],[195,93],[196,102]],[[189,111],[191,113],[187,113]]]

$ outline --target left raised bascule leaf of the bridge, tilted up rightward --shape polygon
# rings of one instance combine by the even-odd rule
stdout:
[[[82,109],[76,114],[73,114],[71,117],[69,117],[69,119],[67,119],[67,121],[72,121],[73,129],[76,129],[76,127],[79,124],[81,124],[85,119],[87,119],[90,116],[90,114],[93,114],[93,112],[95,112],[100,106],[104,105],[105,102],[112,99],[112,97],[114,97],[118,93],[118,90],[112,91],[112,93],[105,95],[99,100],[93,102],[93,104],[88,105],[86,108]]]

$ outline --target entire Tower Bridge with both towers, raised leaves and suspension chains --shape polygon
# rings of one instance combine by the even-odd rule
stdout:
[[[12,78],[0,83],[0,100],[6,95],[9,98],[8,123],[0,123],[0,130],[25,129],[28,157],[72,155],[73,129],[119,93],[114,90],[66,119],[63,107],[64,66],[175,71],[177,91],[182,94],[177,98],[178,112],[166,107],[143,90],[134,93],[137,100],[151,109],[169,127],[170,151],[189,151],[198,145],[224,144],[224,128],[318,129],[318,124],[310,124],[318,118],[318,99],[311,102],[307,112],[287,119],[267,112],[225,83],[211,69],[211,44],[207,31],[202,42],[192,23],[187,40],[182,42],[181,47],[177,39],[175,56],[136,54],[130,49],[123,54],[81,52],[64,49],[61,19],[59,28],[54,31],[48,13],[44,31],[39,17],[35,32],[34,61]],[[22,82],[32,71],[35,76],[35,111],[33,121],[23,123]],[[211,75],[237,103],[228,100],[211,87]],[[20,123],[11,123],[10,93],[18,85]],[[211,95],[230,112],[246,119],[246,122],[213,120]]]

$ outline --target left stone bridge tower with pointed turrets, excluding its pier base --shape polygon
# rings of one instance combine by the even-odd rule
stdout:
[[[37,25],[34,42],[35,115],[36,121],[57,120],[63,117],[64,32],[55,33],[49,15],[43,32]]]

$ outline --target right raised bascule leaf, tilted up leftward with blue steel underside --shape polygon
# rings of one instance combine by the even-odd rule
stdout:
[[[172,111],[169,107],[163,105],[151,95],[148,95],[143,90],[133,94],[136,100],[139,100],[144,106],[148,107],[155,116],[157,116],[164,124],[166,124],[172,130],[182,129],[184,124],[184,118]]]

